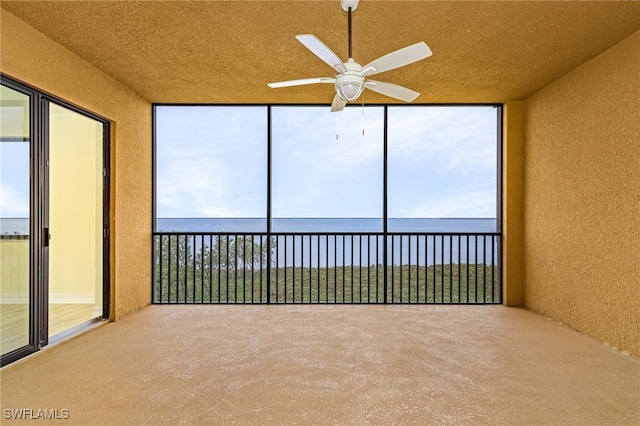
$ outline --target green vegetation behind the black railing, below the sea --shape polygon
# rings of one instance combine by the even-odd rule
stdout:
[[[163,237],[162,245],[156,241],[156,302],[267,302],[267,254],[275,241],[213,237],[203,245],[200,237],[195,242],[184,235],[170,238]],[[394,265],[386,273],[389,303],[500,301],[495,265]],[[384,302],[382,265],[272,267],[270,274],[271,303]]]

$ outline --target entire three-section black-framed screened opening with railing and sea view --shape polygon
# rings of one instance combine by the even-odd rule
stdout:
[[[154,303],[501,302],[500,106],[154,118]]]

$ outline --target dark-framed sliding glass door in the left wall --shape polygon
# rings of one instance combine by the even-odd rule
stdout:
[[[6,365],[108,316],[109,123],[1,79],[0,364]]]

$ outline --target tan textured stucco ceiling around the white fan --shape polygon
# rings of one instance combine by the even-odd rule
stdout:
[[[296,39],[347,56],[347,14],[331,1],[6,1],[2,8],[153,102],[328,103],[333,76]],[[353,13],[362,65],[425,41],[433,56],[377,75],[416,100],[523,99],[640,30],[639,1],[381,1]],[[362,100],[362,99],[360,99]],[[371,91],[366,102],[393,102]]]

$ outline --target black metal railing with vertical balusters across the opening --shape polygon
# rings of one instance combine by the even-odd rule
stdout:
[[[154,234],[154,303],[502,302],[498,233]]]

